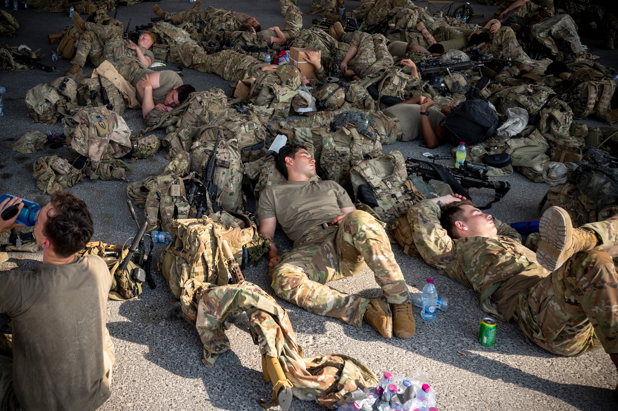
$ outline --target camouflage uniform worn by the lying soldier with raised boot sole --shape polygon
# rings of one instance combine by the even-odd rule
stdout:
[[[531,259],[521,236],[506,223],[494,218],[496,238],[451,239],[439,216],[438,205],[429,200],[408,211],[418,252],[439,273],[479,293],[483,310],[501,320],[512,318],[528,339],[554,354],[582,354],[598,348],[599,342],[609,354],[618,353],[618,318],[612,312],[618,305],[618,274],[612,257],[602,248],[618,245],[618,218],[586,224],[601,244],[578,252],[549,272]],[[493,294],[510,278],[530,272],[538,282],[519,297],[511,297],[515,299],[512,312],[499,312]],[[502,293],[508,294],[509,289]]]

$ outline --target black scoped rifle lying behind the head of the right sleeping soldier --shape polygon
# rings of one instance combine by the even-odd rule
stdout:
[[[423,177],[423,180],[439,180],[444,181],[455,194],[460,194],[470,199],[468,189],[474,188],[491,188],[494,190],[494,199],[485,207],[478,209],[485,210],[491,207],[494,202],[506,196],[510,190],[508,181],[492,181],[489,180],[487,172],[488,165],[477,164],[470,161],[464,161],[464,165],[459,168],[444,167],[444,165],[435,164],[436,160],[451,160],[449,156],[433,156],[433,162],[425,160],[417,160],[408,158],[405,160],[405,168],[408,175],[415,174]]]

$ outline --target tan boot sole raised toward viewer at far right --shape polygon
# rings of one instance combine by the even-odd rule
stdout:
[[[539,223],[541,245],[536,251],[536,260],[549,271],[561,267],[570,255],[566,255],[567,239],[573,235],[569,213],[560,207],[549,207]]]

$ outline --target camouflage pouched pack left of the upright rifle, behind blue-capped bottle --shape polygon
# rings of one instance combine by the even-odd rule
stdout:
[[[189,205],[182,178],[173,174],[150,176],[127,186],[127,196],[143,207],[148,229],[171,233],[172,221],[188,218]]]

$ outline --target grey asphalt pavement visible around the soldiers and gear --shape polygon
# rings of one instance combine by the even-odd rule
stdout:
[[[132,25],[150,22],[154,3],[120,6],[117,19]],[[192,6],[188,1],[161,1],[161,8],[180,11]],[[303,11],[310,9],[310,1],[299,1]],[[360,4],[348,0],[346,6],[353,9]],[[464,4],[456,0],[455,5]],[[209,5],[247,12],[260,20],[262,27],[282,25],[279,2],[208,1]],[[427,6],[426,2],[418,2]],[[492,14],[493,6],[472,4],[477,13]],[[4,7],[4,6],[0,6]],[[40,156],[58,155],[69,158],[66,149],[48,149],[34,154],[19,154],[8,145],[27,130],[60,133],[60,123],[50,127],[31,123],[26,117],[23,98],[28,89],[38,83],[50,83],[64,74],[70,64],[65,60],[51,61],[54,45],[47,41],[48,33],[57,33],[70,24],[65,14],[42,13],[36,10],[9,10],[21,28],[17,36],[4,39],[11,46],[22,43],[33,49],[41,48],[46,56],[43,62],[56,65],[56,73],[46,73],[36,68],[28,72],[10,73],[0,71],[0,85],[7,93],[4,99],[4,116],[0,117],[0,193],[11,193],[45,204],[49,196],[36,188],[32,178],[33,162]],[[113,14],[113,12],[112,12]],[[313,16],[305,14],[305,27],[310,26]],[[472,23],[483,18],[475,17]],[[583,38],[593,54],[601,56],[602,64],[618,67],[616,53],[600,49],[603,43],[598,38]],[[166,68],[175,68],[176,65]],[[91,69],[92,67],[90,67]],[[215,75],[185,69],[185,83],[198,90],[214,86],[227,92],[229,83]],[[127,110],[123,115],[133,133],[142,128],[138,110]],[[586,120],[588,125],[602,125]],[[156,131],[160,137],[163,130]],[[400,150],[405,157],[420,158],[423,152],[447,154],[447,147],[428,150],[418,142],[396,143],[384,147],[384,151]],[[129,182],[142,180],[149,175],[161,173],[166,152],[129,164],[132,171]],[[448,164],[449,162],[443,162]],[[511,190],[502,201],[491,208],[491,213],[512,223],[537,217],[538,202],[548,186],[531,183],[519,173],[502,178],[510,181]],[[84,199],[95,217],[93,240],[106,243],[123,243],[135,235],[135,223],[125,206],[127,181],[90,181],[70,191]],[[491,200],[490,191],[473,190],[473,199],[478,204]],[[250,204],[255,202],[250,201]],[[138,210],[140,218],[141,210]],[[282,249],[291,243],[282,233],[279,236]],[[155,247],[158,254],[162,246]],[[437,392],[440,410],[616,410],[612,390],[618,382],[616,367],[603,351],[593,351],[575,358],[549,354],[540,347],[525,341],[519,327],[512,324],[497,325],[496,345],[485,347],[477,341],[480,320],[486,313],[480,309],[478,296],[454,280],[439,276],[436,270],[421,259],[404,255],[399,246],[393,247],[410,292],[419,292],[426,278],[434,278],[441,296],[449,298],[449,311],[438,312],[438,319],[426,323],[420,318],[420,309],[415,307],[417,333],[412,339],[384,339],[370,326],[362,328],[343,325],[337,320],[320,317],[282,301],[290,317],[298,341],[307,357],[329,352],[344,353],[361,360],[377,374],[391,371],[399,375],[412,375],[416,370],[431,374],[431,383]],[[36,254],[9,253],[8,262],[0,270],[18,268],[27,270],[39,264],[42,252]],[[271,384],[261,377],[259,351],[248,333],[248,320],[242,314],[229,319],[226,333],[231,341],[231,350],[222,354],[214,368],[206,368],[201,362],[202,349],[192,325],[185,322],[175,305],[163,276],[155,273],[158,287],[144,287],[136,301],[108,301],[108,329],[116,347],[116,363],[112,382],[112,396],[102,410],[261,410],[259,399],[268,399]],[[266,261],[258,267],[245,271],[248,281],[273,293],[266,273]],[[345,280],[330,283],[333,288],[347,293],[358,293],[374,298],[380,290],[369,270]],[[5,321],[6,322],[6,319]],[[0,320],[2,323],[2,320]],[[67,347],[70,350],[70,347]],[[294,399],[291,410],[318,410],[315,402]]]

